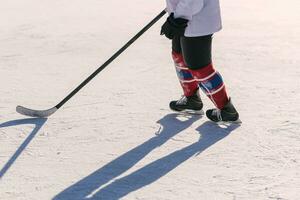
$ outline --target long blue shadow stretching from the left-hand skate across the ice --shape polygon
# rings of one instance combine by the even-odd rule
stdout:
[[[185,117],[177,113],[164,116],[157,122],[161,125],[161,128],[155,133],[154,137],[68,187],[56,195],[53,200],[93,199],[95,194],[101,193],[101,188],[105,188],[105,185],[107,184],[110,185],[110,182],[129,170],[155,148],[160,147],[168,140],[172,139],[172,137],[190,127],[200,118],[201,116]]]

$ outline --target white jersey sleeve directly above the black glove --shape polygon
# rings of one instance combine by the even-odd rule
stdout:
[[[184,18],[191,20],[193,15],[201,11],[204,6],[204,0],[179,0],[175,12],[175,18]]]

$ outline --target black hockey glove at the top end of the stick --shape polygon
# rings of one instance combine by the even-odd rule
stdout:
[[[161,27],[160,34],[165,35],[169,39],[173,39],[174,36],[183,36],[188,21],[183,18],[174,18],[174,13],[171,13]]]

